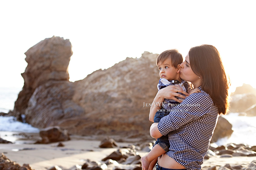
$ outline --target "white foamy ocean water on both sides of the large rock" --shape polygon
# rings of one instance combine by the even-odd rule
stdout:
[[[9,110],[13,110],[14,102],[16,101],[20,90],[21,88],[0,88],[0,112],[7,113]],[[217,145],[226,145],[228,143],[245,143],[251,146],[256,145],[256,116],[238,116],[238,113],[230,113],[223,117],[232,124],[234,132],[230,138],[222,138],[217,141]],[[0,116],[0,136],[3,132],[38,133],[39,129],[34,128],[27,123],[18,122],[11,116]]]

